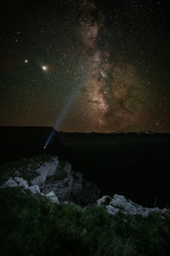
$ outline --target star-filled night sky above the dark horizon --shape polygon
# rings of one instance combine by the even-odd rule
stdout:
[[[0,3],[0,125],[170,131],[167,1]]]

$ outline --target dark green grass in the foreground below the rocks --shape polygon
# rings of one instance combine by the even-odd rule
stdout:
[[[170,255],[170,212],[161,218],[109,215],[54,205],[20,188],[0,189],[1,255]]]

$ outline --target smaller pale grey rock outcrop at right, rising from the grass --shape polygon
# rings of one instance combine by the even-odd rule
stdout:
[[[123,195],[114,195],[112,198],[104,195],[97,201],[97,204],[104,205],[107,212],[112,215],[115,215],[116,212],[122,212],[124,214],[131,214],[136,215],[139,214],[143,217],[148,217],[150,212],[158,212],[164,213],[167,212],[167,209],[160,209],[158,207],[149,208],[149,207],[142,207],[133,201],[127,200]]]

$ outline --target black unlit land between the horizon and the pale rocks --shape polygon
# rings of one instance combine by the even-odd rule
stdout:
[[[170,206],[170,134],[55,134],[52,128],[0,127],[1,164],[55,154],[94,181],[102,195],[125,195],[144,207]]]

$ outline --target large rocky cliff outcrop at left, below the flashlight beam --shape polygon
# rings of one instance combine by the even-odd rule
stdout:
[[[70,163],[59,161],[54,156],[23,161],[26,165],[22,162],[18,169],[15,165],[14,170],[8,171],[10,178],[2,188],[23,186],[33,194],[47,196],[53,202],[69,201],[81,206],[95,203],[99,199],[99,189],[94,183],[85,180],[82,173],[74,172]]]

